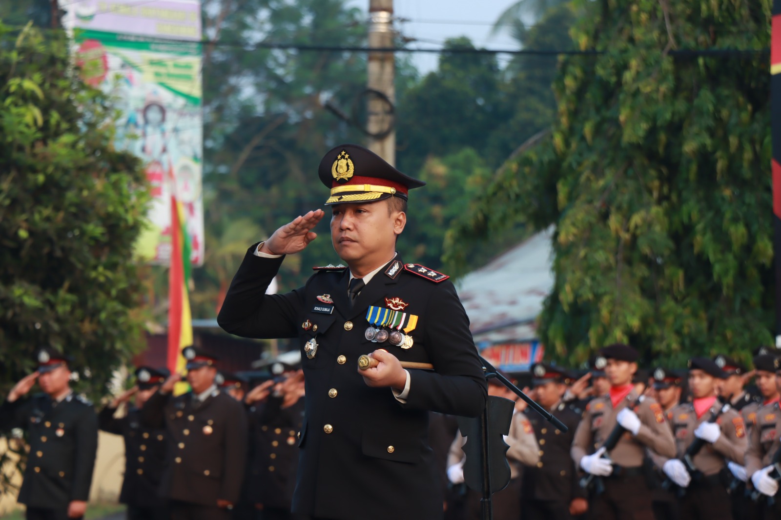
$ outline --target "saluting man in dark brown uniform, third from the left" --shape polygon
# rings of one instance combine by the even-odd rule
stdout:
[[[230,518],[244,477],[247,418],[244,406],[214,383],[217,357],[185,347],[191,391],[173,397],[178,374],[166,379],[141,408],[141,422],[166,427],[168,446],[160,494],[173,520]]]

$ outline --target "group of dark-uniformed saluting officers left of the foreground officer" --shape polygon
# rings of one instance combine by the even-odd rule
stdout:
[[[70,389],[70,358],[51,348],[37,353],[36,372],[0,405],[0,429],[11,441],[27,433],[18,497],[27,518],[84,516],[98,429],[123,437],[119,501],[127,504],[129,520],[294,518],[300,369],[275,363],[273,379],[248,392],[246,379],[218,372],[215,354],[197,347],[183,354],[188,391],[178,394],[180,376],[141,366],[134,386],[96,414]],[[27,397],[36,382],[41,394]]]

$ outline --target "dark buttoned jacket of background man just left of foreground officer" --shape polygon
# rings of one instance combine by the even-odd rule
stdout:
[[[298,468],[298,432],[304,418],[304,398],[281,408],[281,397],[251,409],[251,463],[248,497],[252,504],[290,510]]]

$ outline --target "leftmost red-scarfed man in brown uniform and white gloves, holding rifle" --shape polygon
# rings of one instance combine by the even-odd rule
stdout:
[[[662,407],[651,397],[638,400],[640,396],[632,384],[637,351],[615,344],[604,347],[600,354],[607,361],[604,372],[611,387],[607,396],[595,397],[587,405],[570,454],[585,472],[604,477],[604,493],[595,493],[590,500],[593,518],[651,520],[651,490],[644,470],[646,450],[674,457],[675,441],[665,424]],[[602,445],[616,424],[626,433],[606,454]]]

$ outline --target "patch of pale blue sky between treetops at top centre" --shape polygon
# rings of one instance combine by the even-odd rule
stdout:
[[[490,36],[491,27],[513,0],[394,0],[396,30],[418,41],[409,44],[423,48],[440,47],[449,37],[468,36],[476,47],[518,48],[518,43],[506,33]],[[369,0],[348,0],[348,5],[369,11]],[[419,53],[412,56],[421,74],[437,68],[437,54]],[[500,55],[500,61],[508,59]]]

